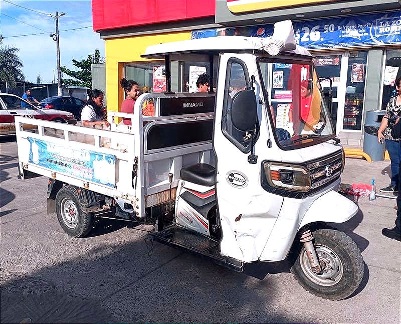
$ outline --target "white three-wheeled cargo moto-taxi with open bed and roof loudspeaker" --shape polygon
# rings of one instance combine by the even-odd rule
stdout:
[[[49,177],[48,213],[73,237],[105,212],[152,224],[154,240],[237,271],[287,258],[309,292],[351,295],[361,253],[326,223],[358,208],[337,193],[345,158],[330,95],[291,22],[270,39],[159,44],[143,57],[164,59],[167,91],[142,94],[133,114],[109,112],[110,129],[16,118],[20,178]],[[210,92],[172,92],[176,61],[207,64]]]

